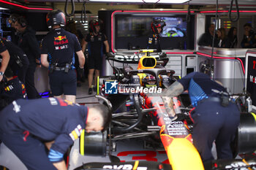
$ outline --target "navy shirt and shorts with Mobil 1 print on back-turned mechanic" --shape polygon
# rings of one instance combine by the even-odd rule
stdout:
[[[63,28],[50,31],[42,40],[41,54],[48,54],[50,90],[53,96],[76,95],[75,52],[81,50],[77,36]],[[69,64],[68,72],[65,68]]]

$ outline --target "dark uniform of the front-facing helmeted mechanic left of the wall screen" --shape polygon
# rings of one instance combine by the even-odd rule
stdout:
[[[94,35],[94,33],[87,34],[86,42],[88,42],[89,53],[88,69],[102,69],[103,42],[106,40],[108,40],[107,36],[102,33],[97,35]]]

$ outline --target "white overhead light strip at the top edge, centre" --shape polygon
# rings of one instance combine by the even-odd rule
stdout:
[[[134,3],[157,3],[157,4],[183,4],[191,0],[89,0],[99,2],[134,2]]]

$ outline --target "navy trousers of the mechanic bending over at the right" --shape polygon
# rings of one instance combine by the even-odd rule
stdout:
[[[233,158],[230,142],[233,141],[240,122],[240,112],[236,104],[230,102],[222,107],[217,101],[203,101],[192,114],[193,143],[203,162],[213,160],[211,147],[215,141],[217,158]]]

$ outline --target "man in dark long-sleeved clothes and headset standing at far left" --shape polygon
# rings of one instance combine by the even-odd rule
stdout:
[[[25,18],[20,17],[15,21],[15,29],[18,31],[18,47],[29,58],[29,68],[26,71],[25,85],[28,98],[40,98],[37,89],[34,87],[34,72],[37,64],[40,64],[40,50],[37,42],[36,32],[28,26]]]

